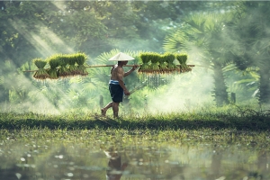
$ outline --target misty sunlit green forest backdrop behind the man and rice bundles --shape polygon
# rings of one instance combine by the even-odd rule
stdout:
[[[237,103],[267,104],[269,5],[268,2],[2,1],[1,111],[59,113],[68,108],[83,108],[96,112],[109,102],[109,68],[82,67],[84,74],[88,74],[85,78],[76,76],[56,82],[37,82],[31,73],[23,73],[36,69],[31,63],[33,58],[78,51],[89,57],[86,61],[89,65],[109,64],[107,59],[116,51],[135,57],[134,63],[141,63],[139,52],[189,55],[186,63],[194,64],[196,69],[193,76],[176,77],[181,82],[175,81],[174,75],[132,73],[125,80],[132,92],[126,98],[131,111],[153,106],[155,94],[167,98],[173,95],[178,102],[167,103],[172,106],[180,106],[179,102],[188,102],[191,97],[194,97],[191,105],[209,99],[221,106],[234,103],[229,94],[235,93]],[[157,63],[154,65],[157,67]],[[166,64],[161,65],[165,65],[166,71]],[[56,69],[50,69],[49,74],[58,77]]]

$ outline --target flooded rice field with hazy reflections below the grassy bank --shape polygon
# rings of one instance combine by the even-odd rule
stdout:
[[[2,132],[0,179],[270,179],[266,134],[82,131]]]

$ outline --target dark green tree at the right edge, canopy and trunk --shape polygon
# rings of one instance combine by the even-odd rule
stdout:
[[[244,14],[231,25],[236,47],[231,58],[241,70],[258,68],[259,103],[270,103],[270,2],[246,2]]]

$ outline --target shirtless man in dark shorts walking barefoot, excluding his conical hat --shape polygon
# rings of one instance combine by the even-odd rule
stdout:
[[[114,65],[111,69],[111,79],[109,82],[109,90],[112,96],[112,102],[108,103],[105,107],[101,109],[102,115],[106,115],[109,108],[112,107],[113,118],[118,118],[119,103],[122,102],[122,96],[130,95],[129,90],[123,82],[124,76],[129,76],[138,66],[134,65],[128,72],[124,72],[123,66],[128,64],[128,61],[118,61],[117,65]]]

